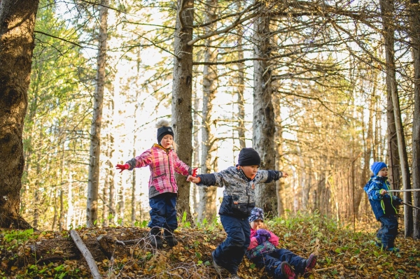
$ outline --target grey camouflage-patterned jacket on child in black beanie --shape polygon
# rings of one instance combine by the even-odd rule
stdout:
[[[258,171],[252,180],[243,171],[230,166],[219,173],[200,174],[197,185],[225,187],[220,215],[230,215],[244,219],[255,207],[255,186],[270,183],[283,177],[281,171]]]

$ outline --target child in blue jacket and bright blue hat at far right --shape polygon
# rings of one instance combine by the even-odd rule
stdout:
[[[374,162],[370,169],[373,176],[363,189],[367,193],[374,216],[381,222],[381,227],[377,231],[377,238],[381,243],[377,243],[377,245],[388,251],[398,252],[399,249],[394,245],[395,237],[398,234],[398,211],[395,206],[402,204],[402,199],[387,192],[390,185],[388,183],[388,166],[384,162]]]

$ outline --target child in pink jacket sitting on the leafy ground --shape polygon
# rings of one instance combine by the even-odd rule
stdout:
[[[316,255],[311,254],[304,259],[290,250],[276,248],[279,237],[261,228],[264,222],[261,208],[253,208],[248,221],[251,226],[251,243],[246,251],[248,259],[258,268],[265,267],[267,273],[276,279],[294,279],[301,274],[309,276],[308,272],[316,265]]]

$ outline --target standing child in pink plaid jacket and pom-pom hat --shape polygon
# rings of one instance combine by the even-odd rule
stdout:
[[[176,185],[175,173],[188,176],[193,173],[193,169],[182,162],[174,147],[174,131],[169,127],[169,122],[160,120],[158,124],[158,144],[141,153],[141,155],[130,159],[125,164],[117,164],[117,169],[131,171],[134,168],[148,166],[151,169],[149,179],[149,204],[151,206],[151,245],[162,248],[162,228],[163,236],[169,247],[175,246],[178,241],[174,237],[174,230],[178,227],[176,220],[176,196],[178,186]],[[120,172],[121,172],[120,171]]]

